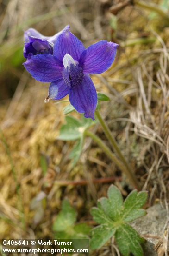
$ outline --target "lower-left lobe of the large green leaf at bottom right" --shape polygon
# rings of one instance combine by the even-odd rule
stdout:
[[[107,224],[102,224],[92,229],[92,239],[90,240],[90,248],[92,250],[99,249],[114,235],[115,231],[115,228],[110,227]]]

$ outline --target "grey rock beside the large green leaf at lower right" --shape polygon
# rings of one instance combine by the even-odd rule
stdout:
[[[162,208],[158,203],[147,209],[146,216],[131,222],[131,226],[146,239],[146,242],[143,244],[144,256],[164,255],[165,250],[163,248],[165,244],[163,243],[163,228],[166,223],[166,218],[166,209]]]

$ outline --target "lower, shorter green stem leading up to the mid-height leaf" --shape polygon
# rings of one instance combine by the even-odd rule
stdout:
[[[93,134],[92,132],[86,130],[84,132],[84,135],[87,135],[89,137],[91,137],[99,146],[100,148],[103,149],[103,151],[106,153],[106,155],[113,161],[115,162],[115,164],[119,167],[119,169],[125,173],[125,175],[130,179],[131,184],[133,185],[133,187],[135,187],[136,189],[140,190],[137,181],[135,181],[135,179],[133,178],[133,174],[129,173],[127,171],[127,169],[125,168],[125,166],[119,161],[119,159],[112,153],[112,151],[106,146],[106,144],[95,134]]]

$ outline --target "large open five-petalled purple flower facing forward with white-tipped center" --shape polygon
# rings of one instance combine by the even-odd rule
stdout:
[[[69,101],[79,113],[94,119],[97,93],[89,74],[100,74],[113,63],[118,44],[99,41],[87,49],[69,28],[57,38],[53,55],[32,56],[23,65],[36,80],[51,82],[46,100]]]

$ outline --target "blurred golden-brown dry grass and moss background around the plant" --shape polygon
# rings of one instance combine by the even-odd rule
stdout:
[[[64,198],[77,210],[77,222],[93,224],[89,209],[111,183],[124,197],[132,190],[91,139],[72,168],[74,143],[57,140],[67,104],[44,104],[48,84],[22,65],[29,27],[51,36],[69,24],[85,47],[98,40],[120,45],[113,66],[93,75],[97,91],[111,99],[101,112],[149,191],[147,206],[167,202],[168,13],[168,0],[0,0],[0,239],[53,238]],[[93,132],[106,142],[99,126]]]

